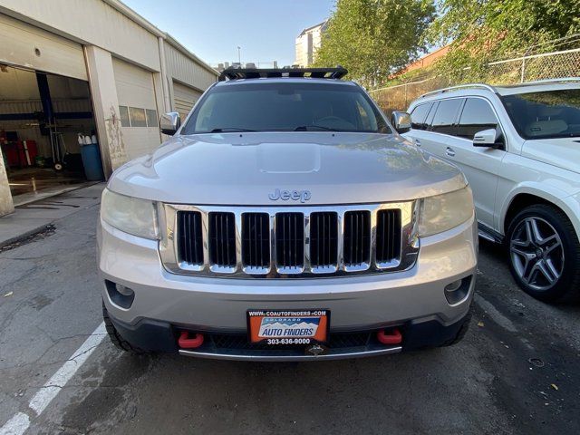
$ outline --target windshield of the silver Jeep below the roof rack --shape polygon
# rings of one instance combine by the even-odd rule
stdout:
[[[181,134],[232,131],[392,132],[358,86],[255,82],[212,88]]]

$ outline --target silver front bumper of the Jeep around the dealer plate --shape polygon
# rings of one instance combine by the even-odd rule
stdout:
[[[140,325],[151,322],[164,325],[153,330],[148,326],[148,334],[165,331],[161,335],[166,337],[166,345],[156,345],[151,350],[176,352],[175,337],[179,330],[245,336],[248,309],[326,309],[332,314],[331,335],[366,333],[397,325],[403,331],[407,328],[411,337],[411,331],[421,330],[429,335],[429,331],[438,328],[453,333],[468,314],[475,285],[477,240],[477,225],[472,218],[459,227],[422,238],[417,263],[407,271],[287,280],[212,278],[170,274],[161,266],[157,242],[133,237],[101,222],[99,273],[105,307],[123,337],[132,343],[140,333],[131,331],[140,330]],[[467,296],[449,304],[444,287],[469,277]],[[111,300],[105,280],[133,290],[135,297],[130,307],[122,308]],[[403,333],[401,346],[392,346],[393,349],[382,346],[376,351],[398,352],[405,348],[406,340]],[[431,342],[437,345],[434,343],[437,340]],[[199,351],[198,356],[246,359],[254,355],[255,359],[261,359],[257,353],[228,356],[210,347],[205,353],[201,350],[195,351]],[[372,346],[366,346],[363,353],[373,354]],[[324,355],[315,358],[321,356]],[[298,359],[304,357],[313,358],[303,355]]]

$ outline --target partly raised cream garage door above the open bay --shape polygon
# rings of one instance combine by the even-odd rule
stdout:
[[[0,14],[0,63],[89,80],[82,45]]]

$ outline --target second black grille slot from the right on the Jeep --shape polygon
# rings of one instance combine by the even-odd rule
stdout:
[[[344,214],[344,265],[368,266],[371,261],[371,213],[347,211]]]

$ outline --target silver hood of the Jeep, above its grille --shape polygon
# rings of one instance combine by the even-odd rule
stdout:
[[[404,201],[465,185],[459,169],[399,136],[333,132],[176,136],[109,182],[131,197],[247,206]],[[276,189],[300,193],[272,200]]]

